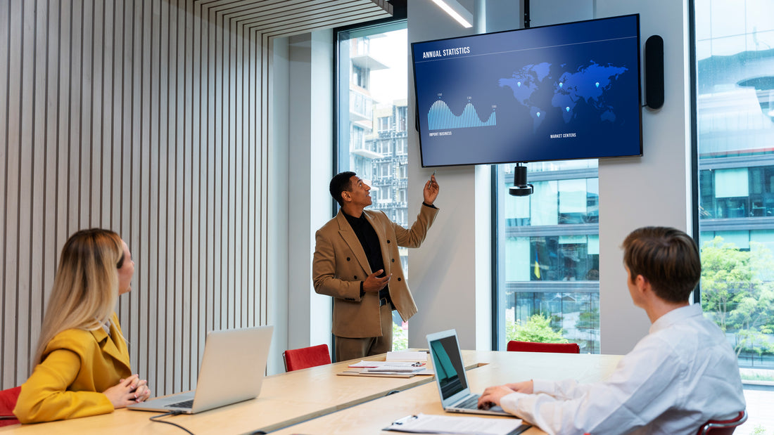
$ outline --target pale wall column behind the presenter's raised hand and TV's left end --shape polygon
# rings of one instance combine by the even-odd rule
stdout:
[[[461,3],[473,10],[474,2]],[[408,17],[409,43],[475,32],[475,29],[464,29],[426,0],[408,2]],[[410,56],[409,50],[408,62]],[[409,69],[409,120],[416,116],[413,87]],[[481,274],[481,263],[476,261],[477,255],[486,255],[480,250],[477,252],[481,238],[490,240],[488,210],[481,209],[481,202],[488,202],[488,180],[482,183],[486,177],[477,176],[477,171],[482,169],[439,168],[436,174],[440,193],[435,204],[440,212],[422,247],[409,250],[409,286],[419,308],[409,321],[409,346],[426,347],[425,335],[456,328],[463,348],[488,348],[485,336],[488,332],[484,331],[491,329],[491,325],[486,324],[485,313],[491,311],[491,304],[486,308],[481,305],[487,304],[491,286],[488,282],[477,284],[478,280],[488,281],[491,272],[486,270],[485,277]],[[415,130],[409,130],[409,216],[419,212],[422,188],[432,172],[421,168],[419,139]],[[480,325],[482,321],[485,325]]]

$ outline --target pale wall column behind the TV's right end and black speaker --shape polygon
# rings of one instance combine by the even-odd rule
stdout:
[[[642,46],[651,35],[664,39],[664,106],[642,110],[642,158],[599,162],[601,351],[622,354],[650,325],[625,287],[622,241],[647,225],[690,233],[688,14],[684,0],[597,0],[596,5],[597,18],[639,13]]]

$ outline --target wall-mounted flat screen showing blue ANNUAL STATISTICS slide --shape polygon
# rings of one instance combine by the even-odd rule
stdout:
[[[423,167],[642,155],[639,15],[411,46]]]

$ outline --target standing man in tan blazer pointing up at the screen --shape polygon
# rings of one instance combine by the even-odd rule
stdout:
[[[411,229],[384,212],[364,210],[372,204],[370,190],[354,172],[335,175],[330,195],[341,210],[315,235],[314,291],[334,298],[337,361],[392,350],[392,310],[404,321],[416,314],[398,246],[419,247],[438,212],[435,175],[425,183],[424,202]]]

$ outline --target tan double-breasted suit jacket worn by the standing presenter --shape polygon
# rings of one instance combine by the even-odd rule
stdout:
[[[416,304],[400,264],[398,246],[419,247],[438,209],[422,206],[411,229],[393,223],[384,212],[364,210],[382,246],[385,274],[392,274],[389,294],[400,317],[416,314]],[[333,333],[339,337],[381,337],[377,292],[360,297],[360,283],[374,271],[368,266],[363,246],[341,210],[315,235],[312,263],[314,291],[334,297]]]

